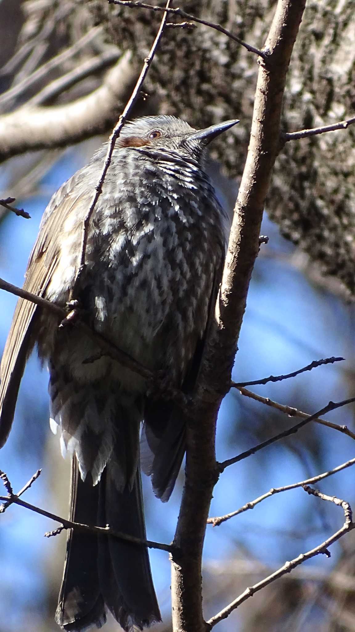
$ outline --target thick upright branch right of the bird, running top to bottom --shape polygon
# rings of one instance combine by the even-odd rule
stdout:
[[[219,327],[212,332],[198,380],[195,420],[188,427],[186,483],[172,554],[174,632],[203,632],[202,547],[208,510],[217,481],[215,420],[228,390],[251,272],[259,249],[260,224],[275,158],[286,73],[305,0],[279,0],[260,61],[250,149],[232,224],[219,301]],[[270,60],[270,64],[269,64]],[[218,370],[216,370],[218,367]],[[209,404],[208,401],[210,402]],[[304,423],[304,422],[303,422]]]

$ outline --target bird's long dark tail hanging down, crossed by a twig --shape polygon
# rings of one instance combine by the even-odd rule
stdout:
[[[117,531],[145,538],[139,470],[131,492],[119,494],[108,464],[93,487],[83,482],[73,458],[71,520],[89,525],[108,524]],[[100,628],[106,609],[126,631],[160,621],[148,552],[145,547],[71,530],[68,536],[63,583],[56,622],[64,629],[81,632]]]

